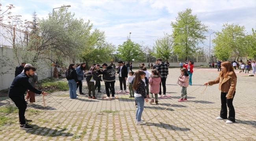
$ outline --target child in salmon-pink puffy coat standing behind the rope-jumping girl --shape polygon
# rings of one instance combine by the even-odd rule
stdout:
[[[151,72],[152,76],[149,78],[148,83],[150,85],[149,95],[151,97],[151,101],[149,103],[154,103],[154,93],[156,98],[156,104],[158,104],[158,93],[160,90],[161,75],[159,75],[159,71],[156,71],[155,69],[153,69]]]

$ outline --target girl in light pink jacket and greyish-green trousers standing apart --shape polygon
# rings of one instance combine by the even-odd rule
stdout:
[[[178,77],[178,83],[182,87],[181,89],[181,98],[178,102],[186,101],[187,100],[187,87],[189,84],[189,74],[187,73],[186,69],[180,70],[180,77]],[[184,99],[183,99],[184,97]]]

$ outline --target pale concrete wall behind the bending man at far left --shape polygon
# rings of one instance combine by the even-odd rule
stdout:
[[[0,47],[0,57],[2,57],[3,55],[12,57],[13,49]],[[14,66],[19,65],[18,62],[12,62],[12,63]],[[29,63],[29,62],[26,62],[26,63]],[[42,65],[43,65],[43,62],[42,62]],[[9,72],[6,74],[2,74],[7,71],[9,71]],[[50,70],[48,68],[45,67],[45,69],[43,71],[46,72],[46,76],[39,77],[39,80],[50,77]],[[0,66],[0,90],[8,89],[11,86],[11,83],[13,82],[14,76],[15,76],[15,68]]]

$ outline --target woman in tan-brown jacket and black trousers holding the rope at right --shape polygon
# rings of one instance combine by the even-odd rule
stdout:
[[[233,106],[233,99],[236,94],[236,73],[231,63],[228,61],[221,63],[221,72],[216,80],[204,83],[204,85],[213,85],[219,83],[219,90],[221,90],[221,114],[216,119],[228,119],[226,123],[235,122],[235,108]],[[229,115],[226,105],[228,105]]]

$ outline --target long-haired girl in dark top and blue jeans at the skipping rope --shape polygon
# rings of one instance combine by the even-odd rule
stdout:
[[[141,115],[144,110],[144,103],[145,101],[148,102],[146,87],[145,87],[146,85],[142,81],[142,79],[145,78],[145,75],[146,73],[142,70],[135,72],[135,78],[132,85],[132,88],[134,89],[134,98],[138,105],[136,110],[136,116],[135,116],[137,125],[146,124],[146,122],[141,121]]]

